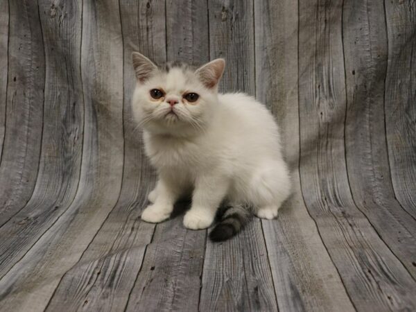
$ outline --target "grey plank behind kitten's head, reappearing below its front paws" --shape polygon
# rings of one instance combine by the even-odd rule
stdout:
[[[206,1],[166,1],[166,40],[168,61],[207,62]],[[185,229],[182,219],[181,215],[156,226],[127,311],[198,309],[206,231]]]

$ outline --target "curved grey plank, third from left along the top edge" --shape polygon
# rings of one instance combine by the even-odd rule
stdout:
[[[0,228],[0,277],[69,207],[80,177],[84,108],[80,77],[82,10],[64,1],[52,6],[49,1],[39,4],[46,53],[40,167],[31,200]]]

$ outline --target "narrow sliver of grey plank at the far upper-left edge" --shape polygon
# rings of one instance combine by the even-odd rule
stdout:
[[[6,128],[6,101],[8,78],[8,37],[9,8],[8,1],[0,3],[0,164],[3,151],[4,131]]]

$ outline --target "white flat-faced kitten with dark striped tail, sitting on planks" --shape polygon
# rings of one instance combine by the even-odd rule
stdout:
[[[188,229],[209,227],[225,202],[227,210],[209,235],[212,241],[239,232],[250,209],[259,218],[276,218],[291,193],[279,129],[251,96],[218,93],[225,60],[198,69],[182,62],[158,67],[133,52],[132,64],[137,78],[132,114],[158,174],[141,219],[166,220],[182,196],[192,198],[183,219]]]

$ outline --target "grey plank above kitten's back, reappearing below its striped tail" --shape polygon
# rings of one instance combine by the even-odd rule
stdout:
[[[252,1],[209,1],[211,59],[225,58],[223,92],[255,94]],[[224,243],[207,241],[201,311],[277,311],[261,222]]]

